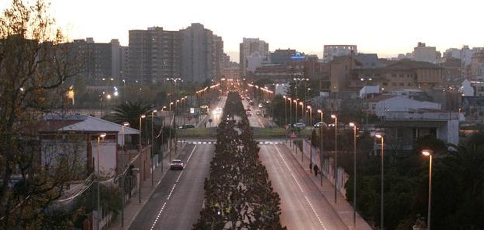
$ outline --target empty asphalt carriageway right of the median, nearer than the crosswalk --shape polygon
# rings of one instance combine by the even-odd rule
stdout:
[[[281,198],[281,224],[289,230],[348,229],[329,201],[301,168],[285,145],[260,145],[274,191]]]

